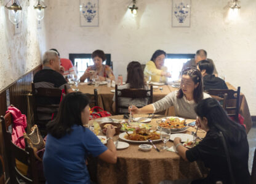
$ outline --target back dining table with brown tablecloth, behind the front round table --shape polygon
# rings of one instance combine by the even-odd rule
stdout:
[[[228,89],[230,90],[237,90],[234,88],[233,85],[226,82],[226,85],[228,86]],[[172,86],[170,84],[167,85],[159,85],[153,88],[153,102],[158,101],[159,99],[164,98],[167,94],[171,93],[172,91],[176,91],[179,88]],[[72,86],[74,88],[74,86]],[[114,88],[105,85],[99,85],[98,87],[95,87],[94,85],[91,85],[90,83],[82,82],[78,85],[78,90],[82,93],[89,93],[94,94],[94,88],[97,88],[98,91],[98,106],[102,107],[104,110],[110,112],[114,115],[112,104],[113,104],[113,96],[114,96]],[[162,90],[161,90],[162,89]],[[239,113],[244,117],[244,124],[246,125],[246,132],[250,131],[250,128],[252,128],[252,118],[250,116],[250,110],[249,106],[246,101],[246,97],[243,93],[240,95],[240,103],[239,103]],[[169,107],[169,109],[164,110],[163,112],[158,112],[158,114],[162,115],[168,115],[168,116],[174,116],[175,110],[174,107]]]

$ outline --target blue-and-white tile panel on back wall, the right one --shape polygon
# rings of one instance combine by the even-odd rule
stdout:
[[[190,27],[191,0],[172,0],[172,27]]]

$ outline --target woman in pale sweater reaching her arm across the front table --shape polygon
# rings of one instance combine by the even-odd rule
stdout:
[[[156,113],[174,106],[175,115],[178,117],[196,119],[194,107],[202,99],[210,95],[202,92],[202,75],[198,69],[188,68],[182,72],[180,90],[167,94],[161,100],[146,105],[140,109],[135,106],[129,107],[132,113]]]

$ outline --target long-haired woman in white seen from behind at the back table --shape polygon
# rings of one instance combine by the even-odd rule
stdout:
[[[142,70],[142,65],[138,63],[138,61],[132,61],[127,66],[127,80],[126,84],[122,86],[118,86],[119,90],[133,88],[133,89],[146,89],[148,90],[148,86],[145,85],[144,74]],[[115,101],[115,95],[113,97],[113,101]],[[130,104],[136,104],[138,106],[144,106],[148,104],[148,99],[131,99],[131,98],[120,98],[120,104],[123,106],[128,106]],[[113,110],[116,108],[115,102],[113,102]],[[127,109],[122,109],[122,112],[128,112]]]

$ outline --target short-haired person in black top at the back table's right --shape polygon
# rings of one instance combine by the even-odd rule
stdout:
[[[221,89],[228,90],[228,86],[224,80],[219,77],[215,77],[212,73],[214,72],[214,66],[210,61],[202,60],[197,64],[197,68],[201,71],[203,81],[204,81],[204,90],[210,89]]]

